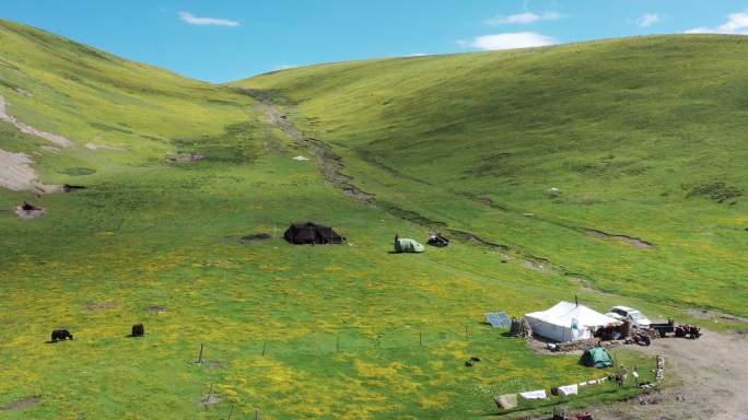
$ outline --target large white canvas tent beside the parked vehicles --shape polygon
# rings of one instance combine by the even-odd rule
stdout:
[[[587,306],[559,302],[550,310],[525,314],[525,319],[538,336],[559,342],[593,338],[595,330],[621,323]]]

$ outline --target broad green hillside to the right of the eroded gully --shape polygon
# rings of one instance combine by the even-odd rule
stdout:
[[[739,36],[638,37],[237,84],[293,104],[382,208],[600,290],[745,317],[747,48]]]

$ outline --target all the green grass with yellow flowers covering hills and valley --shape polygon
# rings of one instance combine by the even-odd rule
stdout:
[[[653,318],[748,316],[741,37],[335,63],[230,85],[8,21],[0,38],[8,114],[71,142],[2,120],[0,149],[27,154],[45,184],[86,187],[0,189],[5,418],[487,418],[495,395],[605,373],[536,354],[486,312],[576,295]],[[47,213],[20,219],[24,200]],[[278,240],[293,221],[346,244]],[[395,233],[431,231],[454,242],[393,253]],[[127,337],[137,323],[145,337]],[[74,340],[48,342],[58,328]],[[635,393],[587,387],[503,418]]]

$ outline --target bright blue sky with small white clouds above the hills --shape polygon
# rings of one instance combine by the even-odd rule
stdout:
[[[748,35],[748,0],[0,0],[0,18],[213,83],[369,58]]]

